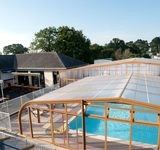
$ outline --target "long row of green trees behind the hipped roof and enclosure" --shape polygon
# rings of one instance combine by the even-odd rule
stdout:
[[[104,46],[97,43],[91,45],[90,40],[83,35],[81,30],[68,26],[40,30],[35,33],[35,39],[30,44],[32,52],[57,51],[88,63],[103,58],[113,60],[133,57],[149,58],[147,54],[149,48],[148,41],[142,39],[125,43],[122,39],[113,38]],[[160,37],[152,40],[151,48],[153,53],[160,52]]]

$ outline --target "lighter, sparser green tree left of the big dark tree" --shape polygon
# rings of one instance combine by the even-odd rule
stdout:
[[[35,33],[35,39],[30,44],[30,49],[40,52],[51,52],[55,48],[57,31],[55,27],[44,28]]]

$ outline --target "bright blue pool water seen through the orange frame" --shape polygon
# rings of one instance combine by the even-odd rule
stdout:
[[[95,104],[98,104],[98,103],[95,103]],[[101,103],[100,105],[104,105],[104,104]],[[113,103],[109,103],[108,106],[130,108],[130,105],[122,105],[122,104],[117,105]],[[146,108],[142,108],[138,106],[134,106],[134,108],[146,109]],[[87,107],[86,113],[103,116],[104,108],[89,106]],[[126,110],[110,109],[109,116],[115,117],[115,118],[129,119],[130,112]],[[134,119],[138,121],[147,121],[147,122],[157,123],[158,121],[157,116],[158,115],[156,113],[135,112]],[[105,121],[104,120],[85,117],[85,128],[86,128],[87,133],[105,135]],[[73,130],[76,129],[76,120],[73,120],[73,122],[70,124],[70,129],[73,129]],[[79,131],[82,130],[82,120],[80,116],[78,116],[78,130]],[[122,123],[122,122],[115,122],[115,121],[107,121],[107,136],[129,140],[130,124]],[[143,143],[148,143],[148,144],[157,144],[158,127],[133,124],[132,141],[143,142]]]

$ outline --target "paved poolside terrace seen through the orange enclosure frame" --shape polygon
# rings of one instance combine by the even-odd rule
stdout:
[[[73,113],[80,113],[80,104],[67,104],[67,111],[73,112]],[[61,104],[56,104],[54,109],[56,110],[64,110],[64,107],[62,107]],[[64,124],[65,124],[65,115],[64,117]],[[52,138],[51,138],[51,127],[50,127],[50,116],[49,112],[44,112],[41,117],[41,123],[37,123],[37,118],[31,114],[32,118],[32,125],[33,125],[33,136],[34,139],[31,139],[27,136],[24,136],[24,138],[27,138],[27,140],[36,142],[39,144],[42,144],[44,146],[48,146],[51,148],[56,148],[57,150],[65,150],[65,148],[57,147],[51,144]],[[68,115],[68,124],[74,119],[74,116]],[[53,124],[54,129],[62,126],[62,114],[54,113],[53,114]],[[18,134],[18,117],[17,114],[11,116],[11,126],[12,126],[12,132],[14,134]],[[22,129],[23,134],[30,136],[30,128],[29,128],[29,119],[28,119],[28,111],[24,110],[22,114]],[[54,134],[55,143],[60,145],[67,145],[67,136],[65,134],[65,141],[63,139],[63,134],[56,135]],[[42,141],[43,140],[43,141]],[[45,142],[47,141],[47,142]],[[50,143],[48,143],[50,142]],[[76,149],[77,148],[77,138],[76,138],[76,131],[69,130],[69,146],[71,148]],[[82,149],[82,134],[80,131],[78,131],[78,148]],[[104,150],[104,136],[94,135],[94,134],[88,134],[86,133],[86,149],[87,150]],[[115,138],[107,138],[107,150],[113,150],[113,149],[119,149],[119,150],[128,150],[129,149],[129,141],[126,140],[120,140]],[[132,150],[153,150],[157,149],[157,146],[150,145],[150,144],[144,144],[144,143],[138,143],[138,142],[132,142]]]

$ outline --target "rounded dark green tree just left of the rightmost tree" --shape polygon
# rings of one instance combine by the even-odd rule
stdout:
[[[134,43],[139,48],[141,57],[148,52],[148,50],[149,50],[148,41],[138,39]]]

